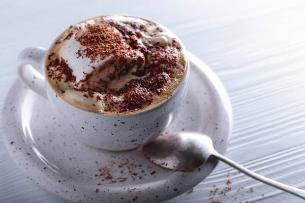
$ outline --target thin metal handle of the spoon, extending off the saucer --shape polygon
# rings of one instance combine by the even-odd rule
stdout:
[[[220,161],[232,166],[233,168],[235,168],[236,170],[246,174],[247,176],[250,176],[251,178],[254,178],[262,183],[265,183],[267,185],[270,185],[272,187],[275,187],[275,188],[278,188],[280,190],[283,190],[285,192],[288,192],[290,194],[293,194],[295,196],[298,196],[302,199],[305,199],[305,191],[304,190],[301,190],[301,189],[298,189],[298,188],[295,188],[295,187],[291,187],[289,185],[285,185],[283,183],[279,183],[277,181],[273,181],[271,179],[268,179],[266,177],[263,177],[261,175],[258,175],[252,171],[250,171],[249,169],[239,165],[238,163],[232,161],[231,159],[219,154],[219,153],[214,153],[212,154],[212,156],[215,156],[217,159],[219,159]]]

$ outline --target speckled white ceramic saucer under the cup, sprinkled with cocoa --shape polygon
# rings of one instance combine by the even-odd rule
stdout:
[[[187,99],[163,133],[203,132],[224,154],[232,129],[229,96],[203,61],[191,53],[188,57]],[[210,160],[191,172],[178,172],[150,162],[141,149],[109,152],[87,146],[58,120],[46,99],[19,80],[6,98],[1,127],[9,154],[27,178],[76,202],[161,202],[184,193],[174,199],[180,202],[218,164]]]

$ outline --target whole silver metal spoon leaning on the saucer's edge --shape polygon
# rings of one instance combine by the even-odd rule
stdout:
[[[191,171],[205,163],[210,156],[213,156],[247,176],[305,199],[304,190],[258,175],[219,154],[214,149],[212,140],[205,134],[196,132],[167,134],[144,145],[143,151],[145,156],[157,165],[178,171]]]

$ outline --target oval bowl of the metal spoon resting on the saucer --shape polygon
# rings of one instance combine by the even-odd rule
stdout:
[[[170,133],[143,147],[146,158],[155,164],[178,171],[201,166],[215,151],[212,140],[196,132]]]

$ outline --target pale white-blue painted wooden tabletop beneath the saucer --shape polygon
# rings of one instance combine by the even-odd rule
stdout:
[[[172,29],[218,74],[229,92],[234,127],[227,156],[261,175],[305,189],[304,1],[2,0],[0,108],[17,78],[19,51],[48,47],[70,24],[111,13],[142,16]],[[228,171],[234,173],[220,164],[195,187],[189,201],[210,202],[212,184],[226,187]],[[66,202],[27,180],[1,137],[0,174],[1,203]],[[303,202],[242,174],[229,178],[232,190],[216,199]],[[240,186],[245,189],[237,191]]]

